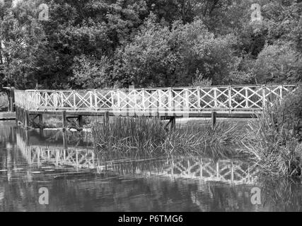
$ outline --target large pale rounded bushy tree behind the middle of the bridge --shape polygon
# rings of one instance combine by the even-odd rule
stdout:
[[[198,70],[198,76],[222,85],[238,73],[234,44],[236,37],[215,37],[201,20],[177,21],[169,29],[153,15],[131,43],[118,49],[113,73],[122,86],[180,86],[192,84]]]

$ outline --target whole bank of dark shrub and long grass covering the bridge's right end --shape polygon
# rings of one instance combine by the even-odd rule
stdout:
[[[250,121],[246,148],[262,172],[298,177],[302,169],[302,88]]]

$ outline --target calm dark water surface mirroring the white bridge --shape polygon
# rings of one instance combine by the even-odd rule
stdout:
[[[300,211],[300,182],[258,178],[209,157],[105,160],[89,133],[24,131],[0,121],[0,211]],[[39,189],[50,193],[40,205]],[[261,191],[261,205],[251,189]]]

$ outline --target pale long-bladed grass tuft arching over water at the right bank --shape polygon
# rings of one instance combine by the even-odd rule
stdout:
[[[302,143],[286,120],[276,119],[275,112],[285,109],[276,103],[248,124],[245,148],[260,172],[272,177],[300,177]]]

